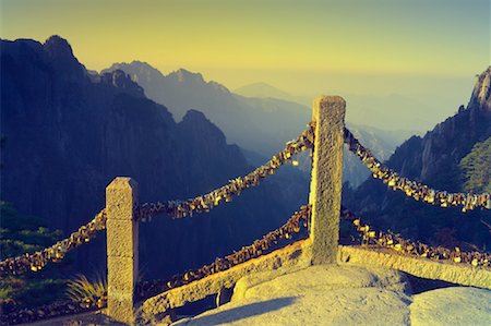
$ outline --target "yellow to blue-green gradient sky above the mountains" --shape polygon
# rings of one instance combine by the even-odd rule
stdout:
[[[1,0],[2,38],[53,34],[93,70],[141,60],[297,94],[467,99],[490,64],[489,0]]]

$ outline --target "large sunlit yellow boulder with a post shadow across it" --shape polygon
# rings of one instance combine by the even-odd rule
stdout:
[[[241,279],[231,302],[176,325],[408,325],[403,274],[337,265]]]

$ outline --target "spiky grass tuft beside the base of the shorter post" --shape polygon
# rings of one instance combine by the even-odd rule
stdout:
[[[67,294],[83,306],[103,307],[107,300],[107,281],[105,277],[97,276],[94,280],[88,280],[85,275],[79,274],[69,280]]]

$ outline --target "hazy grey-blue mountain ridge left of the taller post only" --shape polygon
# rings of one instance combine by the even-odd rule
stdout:
[[[296,137],[310,120],[310,110],[298,104],[249,100],[200,73],[180,69],[164,75],[147,63],[115,63],[110,69],[127,72],[146,95],[165,105],[180,120],[189,109],[206,114],[227,135],[229,143],[271,156]],[[273,102],[272,102],[273,101]]]

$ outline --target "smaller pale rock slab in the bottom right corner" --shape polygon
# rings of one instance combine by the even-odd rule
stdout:
[[[410,322],[414,326],[489,326],[491,291],[453,287],[414,295]]]

